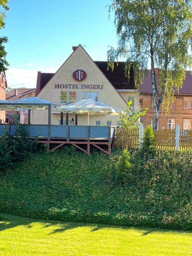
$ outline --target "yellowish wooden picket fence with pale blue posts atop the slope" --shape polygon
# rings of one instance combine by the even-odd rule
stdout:
[[[116,128],[116,143],[117,147],[121,145],[139,147],[142,146],[143,132],[141,126],[138,129],[122,130]],[[177,149],[192,150],[192,130],[182,130],[179,126],[171,130],[154,130],[156,146],[161,149]]]

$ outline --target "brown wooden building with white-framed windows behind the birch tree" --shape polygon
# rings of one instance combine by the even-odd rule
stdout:
[[[156,82],[158,84],[158,69],[156,72]],[[145,82],[140,88],[140,105],[148,108],[146,114],[141,118],[144,127],[152,124],[154,115],[152,84],[151,84],[151,70],[148,70]],[[183,81],[183,86],[179,93],[175,92],[174,102],[170,104],[170,113],[165,114],[162,107],[159,112],[158,129],[173,129],[177,124],[181,129],[191,130],[192,122],[192,75],[190,71],[186,71],[186,78]]]

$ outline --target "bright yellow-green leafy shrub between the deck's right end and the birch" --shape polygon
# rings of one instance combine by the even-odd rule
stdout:
[[[121,114],[120,116],[120,128],[121,129],[132,129],[132,128],[137,128],[139,127],[139,123],[137,123],[137,121],[139,120],[139,118],[141,116],[143,116],[146,113],[146,110],[148,110],[148,108],[139,108],[139,111],[136,112],[132,112],[132,114],[130,115],[130,107],[131,107],[132,101],[130,100],[129,102],[127,102],[127,110],[125,115]]]

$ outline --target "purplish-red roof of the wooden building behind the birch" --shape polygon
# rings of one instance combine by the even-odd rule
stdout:
[[[156,75],[156,83],[158,85],[158,75]],[[148,69],[145,82],[140,86],[140,93],[152,93],[152,83],[151,83],[151,70]],[[179,90],[180,94],[192,94],[192,75],[190,71],[186,71],[186,77],[183,80],[183,86]],[[175,90],[175,94],[178,94],[178,91]]]

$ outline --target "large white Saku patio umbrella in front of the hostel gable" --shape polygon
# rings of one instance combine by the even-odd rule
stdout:
[[[68,105],[64,105],[61,107],[57,107],[58,111],[68,113],[71,112],[73,114],[87,114],[87,124],[89,125],[89,115],[120,115],[125,114],[120,109],[111,107],[107,104],[92,100],[85,99],[80,100],[74,103],[70,103]]]

